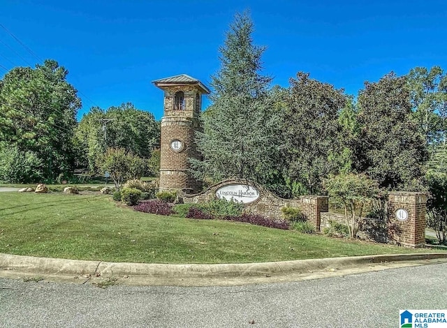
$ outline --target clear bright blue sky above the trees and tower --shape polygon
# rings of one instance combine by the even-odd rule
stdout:
[[[390,70],[447,69],[445,0],[0,0],[0,8],[0,23],[29,50],[69,70],[78,117],[130,101],[161,119],[163,93],[152,80],[186,73],[208,84],[228,25],[247,8],[273,84],[287,87],[302,70],[356,95]],[[37,63],[0,28],[1,66]]]

